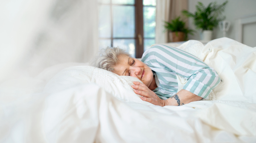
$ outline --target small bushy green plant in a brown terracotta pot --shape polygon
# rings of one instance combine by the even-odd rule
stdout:
[[[193,30],[185,27],[185,22],[180,20],[180,17],[175,18],[171,22],[165,22],[166,30],[169,30],[169,37],[171,42],[179,42],[187,39],[188,34],[193,34]]]

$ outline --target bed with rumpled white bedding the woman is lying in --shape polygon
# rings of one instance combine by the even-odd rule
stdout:
[[[86,64],[49,67],[0,85],[0,142],[255,143],[256,48],[228,38],[177,48],[218,72],[211,98],[160,107],[133,92],[136,78]]]

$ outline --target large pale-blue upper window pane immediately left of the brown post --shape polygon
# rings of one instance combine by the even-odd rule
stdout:
[[[134,6],[113,6],[113,37],[134,38]]]

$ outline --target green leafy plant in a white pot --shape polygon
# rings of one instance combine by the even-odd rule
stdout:
[[[205,7],[203,3],[198,2],[195,14],[186,10],[183,10],[182,13],[187,17],[193,17],[196,28],[202,29],[203,31],[203,40],[211,40],[213,28],[218,25],[218,22],[225,19],[225,17],[219,16],[224,11],[226,4],[227,1],[221,5],[212,2]]]

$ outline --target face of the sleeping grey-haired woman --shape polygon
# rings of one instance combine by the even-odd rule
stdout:
[[[133,76],[140,79],[147,87],[153,80],[152,70],[143,62],[127,55],[119,55],[117,57],[119,63],[114,66],[113,73],[119,76]]]

